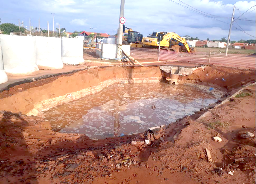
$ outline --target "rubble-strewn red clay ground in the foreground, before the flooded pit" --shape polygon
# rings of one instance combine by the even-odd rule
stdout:
[[[0,183],[255,183],[255,86],[244,92],[202,122],[196,113],[164,126],[150,145],[131,144],[148,139],[146,132],[91,140],[1,111]],[[216,134],[222,142],[213,141]]]

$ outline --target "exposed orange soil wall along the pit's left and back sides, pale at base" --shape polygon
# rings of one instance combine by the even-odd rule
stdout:
[[[159,82],[161,73],[159,67],[108,67],[79,71],[55,80],[43,79],[45,81],[40,86],[37,83],[41,81],[16,86],[26,88],[26,85],[30,85],[30,88],[0,99],[0,110],[37,115],[37,109],[43,110],[76,100],[127,78],[133,79],[133,82]]]

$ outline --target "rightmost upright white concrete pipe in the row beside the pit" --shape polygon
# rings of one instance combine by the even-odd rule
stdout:
[[[61,38],[61,60],[64,64],[84,64],[83,39]]]

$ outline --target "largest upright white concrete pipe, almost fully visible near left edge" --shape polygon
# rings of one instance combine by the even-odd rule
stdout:
[[[0,35],[4,71],[8,75],[25,76],[38,71],[35,37]]]

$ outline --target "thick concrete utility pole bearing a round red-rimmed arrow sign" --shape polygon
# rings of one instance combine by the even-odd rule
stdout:
[[[120,18],[124,17],[125,0],[121,0],[120,14],[119,14],[119,27],[117,32],[117,53],[116,58],[122,58],[122,37],[123,37],[123,24],[120,22]],[[121,59],[118,59],[121,62]]]

